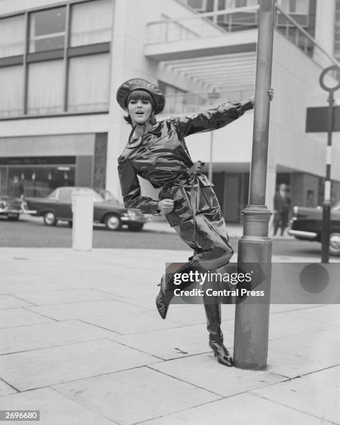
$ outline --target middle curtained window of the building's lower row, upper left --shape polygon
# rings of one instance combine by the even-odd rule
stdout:
[[[63,60],[49,60],[29,65],[27,113],[63,112]]]

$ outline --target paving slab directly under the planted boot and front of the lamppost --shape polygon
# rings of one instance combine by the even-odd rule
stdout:
[[[216,361],[213,353],[168,360],[150,367],[181,379],[181,381],[220,394],[222,397],[229,397],[287,379],[284,376],[266,371],[223,367]]]

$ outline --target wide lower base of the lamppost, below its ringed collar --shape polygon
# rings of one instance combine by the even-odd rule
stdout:
[[[241,213],[244,234],[238,241],[238,267],[246,269],[249,263],[257,265],[259,270],[252,276],[252,290],[264,291],[264,296],[259,299],[248,296],[236,304],[234,365],[241,369],[265,369],[272,256],[272,241],[268,238],[271,212],[266,206],[248,205]]]

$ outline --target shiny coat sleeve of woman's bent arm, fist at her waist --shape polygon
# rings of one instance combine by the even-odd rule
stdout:
[[[145,214],[158,215],[157,202],[149,197],[142,197],[136,170],[126,158],[118,158],[118,174],[125,208],[139,208]]]

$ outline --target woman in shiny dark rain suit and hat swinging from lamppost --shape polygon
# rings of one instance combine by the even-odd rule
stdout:
[[[271,99],[273,93],[268,93]],[[184,137],[229,124],[253,108],[254,97],[223,103],[190,117],[156,122],[155,115],[165,106],[164,94],[145,79],[132,78],[118,88],[117,101],[127,113],[124,119],[132,126],[127,146],[118,158],[124,205],[140,208],[144,213],[163,213],[180,238],[194,250],[177,273],[211,272],[227,265],[233,250],[216,194],[207,177],[199,173],[204,164],[191,160]],[[142,196],[137,176],[154,188],[161,188],[158,201]],[[156,306],[165,319],[175,287],[179,288],[174,284],[174,273],[165,274],[160,286]],[[232,356],[223,345],[220,330],[220,303],[218,299],[214,301],[208,303],[204,298],[209,345],[219,363],[232,366]]]

